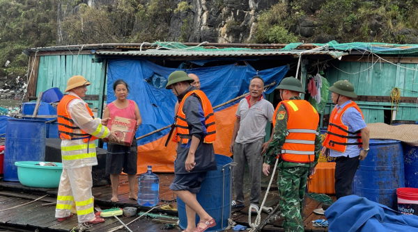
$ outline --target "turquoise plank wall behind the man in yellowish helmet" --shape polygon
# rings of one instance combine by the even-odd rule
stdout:
[[[75,75],[82,75],[91,82],[86,94],[99,94],[102,63],[92,63],[92,58],[93,56],[91,55],[41,56],[36,96],[38,96],[39,92],[44,92],[54,87],[64,92],[68,78]],[[98,107],[98,101],[86,102],[93,103],[93,105],[90,105],[91,107]]]

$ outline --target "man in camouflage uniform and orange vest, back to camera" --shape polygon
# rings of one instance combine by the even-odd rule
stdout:
[[[274,124],[274,135],[273,140],[272,142],[270,142],[267,152],[265,154],[263,172],[266,176],[268,176],[268,174],[270,174],[270,164],[274,164],[275,158],[279,158],[277,166],[277,186],[279,188],[280,193],[281,216],[284,218],[283,228],[286,229],[286,231],[299,232],[304,231],[302,220],[302,204],[304,199],[305,188],[307,187],[308,175],[315,173],[315,166],[318,163],[318,158],[320,155],[321,137],[318,126],[319,117],[315,116],[315,114],[318,115],[318,113],[316,113],[315,109],[311,109],[311,105],[307,101],[300,99],[299,93],[304,93],[304,90],[302,88],[302,84],[300,83],[300,81],[297,80],[297,78],[284,78],[277,88],[280,91],[281,99],[289,100],[291,101],[291,104],[288,103],[289,101],[281,101],[276,110],[276,113],[274,114],[274,118],[276,119],[276,122]],[[294,103],[297,103],[297,106],[299,108],[294,108]],[[303,108],[301,108],[301,106],[303,106]],[[301,151],[301,154],[310,154],[308,162],[306,162],[306,160],[301,160],[300,163],[295,162],[297,158],[302,157],[303,159],[307,156],[298,156],[296,159],[294,159],[293,157],[295,157],[295,155],[288,156],[286,154],[288,152],[291,152],[286,150],[288,149],[288,147],[286,147],[285,145],[285,141],[287,143],[287,141],[289,140],[289,138],[287,138],[288,140],[286,140],[286,137],[289,136],[289,132],[291,131],[288,127],[288,110],[294,110],[292,112],[295,112],[297,110],[300,110],[302,112],[304,110],[307,110],[307,112],[309,112],[309,110],[311,110],[311,112],[314,112],[312,113],[313,116],[306,116],[315,117],[315,119],[306,119],[307,117],[304,117],[305,119],[302,120],[297,119],[297,122],[292,121],[292,124],[306,124],[301,121],[309,121],[308,124],[310,124],[309,128],[311,130],[307,131],[311,131],[312,133],[312,135],[309,135],[311,136],[311,141],[305,142],[311,145],[303,144],[304,142],[296,142],[293,144],[293,149],[295,149],[295,147],[301,147],[300,150],[307,148],[302,148],[303,146],[311,146],[308,147],[307,150]],[[293,113],[293,115],[295,115],[295,113]],[[318,119],[316,119],[316,117],[318,117]],[[286,147],[285,150],[284,147]],[[296,153],[297,151],[293,154]],[[278,156],[278,154],[281,155]],[[293,160],[291,160],[292,162],[288,161],[288,157],[293,158]],[[314,159],[311,160],[312,158]]]

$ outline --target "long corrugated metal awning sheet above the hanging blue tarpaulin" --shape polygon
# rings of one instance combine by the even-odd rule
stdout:
[[[309,50],[276,50],[276,49],[243,49],[243,50],[229,50],[210,49],[210,51],[187,51],[183,49],[175,50],[155,50],[149,49],[147,51],[96,51],[96,55],[106,56],[170,56],[170,57],[185,57],[185,56],[201,56],[201,57],[230,57],[230,56],[295,56],[302,55],[329,55],[332,58],[339,58],[348,55],[342,51],[309,51]],[[225,49],[227,50],[227,49]]]

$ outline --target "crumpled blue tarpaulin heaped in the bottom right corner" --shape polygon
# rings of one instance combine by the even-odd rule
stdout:
[[[325,211],[325,216],[331,232],[418,231],[418,216],[403,215],[357,195],[341,197]]]

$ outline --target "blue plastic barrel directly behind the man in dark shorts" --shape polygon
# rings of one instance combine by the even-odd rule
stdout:
[[[232,159],[228,156],[216,155],[217,169],[206,174],[201,190],[196,194],[197,201],[216,222],[216,226],[207,231],[223,231],[228,226],[232,201],[232,167],[229,165],[231,163]],[[177,207],[180,219],[179,226],[186,229],[186,206],[178,197]],[[196,215],[196,224],[199,220],[199,215]]]

